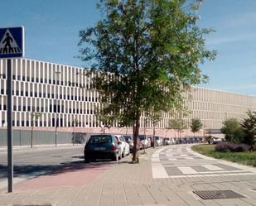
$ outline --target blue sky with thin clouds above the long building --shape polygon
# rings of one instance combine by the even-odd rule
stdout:
[[[79,31],[94,26],[102,16],[96,0],[1,0],[0,27],[24,26],[26,58],[82,67]],[[201,65],[210,76],[200,85],[256,96],[256,1],[205,0],[200,27],[213,28],[205,36],[216,60]]]

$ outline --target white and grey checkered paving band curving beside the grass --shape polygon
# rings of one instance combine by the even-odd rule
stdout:
[[[188,146],[173,146],[172,151],[165,146],[152,154],[154,179],[255,174],[256,170],[245,166],[200,156],[190,151]]]

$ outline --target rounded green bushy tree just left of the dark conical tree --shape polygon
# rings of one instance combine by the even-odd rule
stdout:
[[[225,120],[220,131],[225,134],[226,141],[240,143],[244,140],[244,132],[237,119],[230,118]]]

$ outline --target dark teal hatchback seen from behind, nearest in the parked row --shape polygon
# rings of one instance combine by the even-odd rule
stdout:
[[[92,135],[85,144],[85,162],[96,159],[121,159],[121,147],[114,135]]]

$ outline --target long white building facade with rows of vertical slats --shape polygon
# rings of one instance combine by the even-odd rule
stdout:
[[[88,70],[39,60],[12,60],[12,125],[14,129],[62,132],[102,132],[94,108],[99,106],[99,94],[92,88]],[[0,60],[0,128],[7,126],[7,60]],[[192,118],[200,118],[205,129],[216,130],[228,118],[244,117],[250,109],[256,111],[256,97],[226,93],[213,89],[192,88],[185,93],[185,106],[191,113],[183,117],[187,126]],[[163,113],[157,123],[159,132],[168,127],[171,114]],[[131,128],[112,131],[132,133]],[[141,132],[152,134],[152,123],[141,117]],[[160,133],[159,133],[160,134]],[[170,133],[171,134],[171,133]],[[160,134],[161,135],[161,134]],[[186,133],[184,133],[186,135]]]

